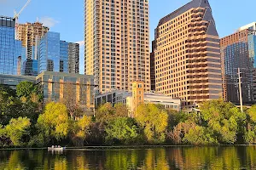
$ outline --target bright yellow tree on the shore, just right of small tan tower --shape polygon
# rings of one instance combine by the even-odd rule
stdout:
[[[143,127],[149,143],[160,144],[166,141],[167,111],[154,104],[142,104],[137,108],[135,119]]]

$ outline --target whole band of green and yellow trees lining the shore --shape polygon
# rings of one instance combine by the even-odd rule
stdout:
[[[0,87],[0,148],[256,144],[256,105],[241,112],[218,99],[200,110],[142,104],[131,117],[125,105],[106,103],[95,116],[84,116],[80,105],[66,99],[43,105],[37,86],[20,82],[15,90]]]

